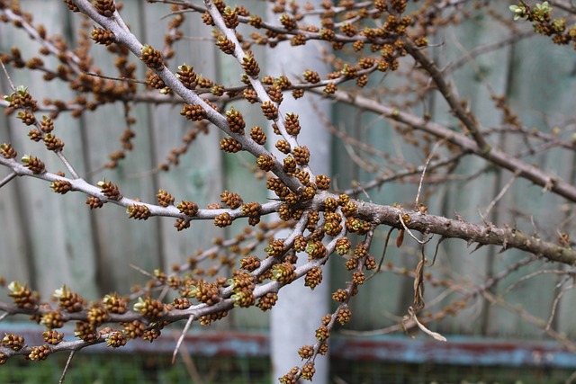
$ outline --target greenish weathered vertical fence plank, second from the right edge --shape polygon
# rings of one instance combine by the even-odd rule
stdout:
[[[497,49],[477,57],[473,57],[469,52],[476,48],[491,44],[500,40],[504,35],[504,27],[499,22],[487,19],[485,15],[478,17],[472,16],[463,25],[446,30],[441,39],[449,40],[451,44],[439,49],[437,55],[438,67],[444,67],[459,59],[467,59],[464,67],[455,68],[453,72],[453,81],[458,97],[468,103],[469,108],[478,118],[482,129],[489,129],[500,124],[500,113],[494,113],[494,102],[491,95],[506,94],[507,77],[509,69],[509,48]],[[450,47],[448,49],[447,47]],[[441,52],[441,53],[440,53]],[[441,100],[439,94],[435,95],[434,118],[448,127],[459,130],[456,127],[455,119],[447,113],[449,107],[444,100]],[[493,137],[489,141],[498,147],[497,140]],[[466,157],[461,161],[457,168],[457,174],[474,174],[481,172],[489,164],[476,157]],[[476,183],[455,182],[446,183],[441,186],[441,193],[435,200],[435,208],[442,215],[454,217],[455,212],[471,221],[482,221],[479,210],[484,212],[486,207],[491,203],[491,199],[500,192],[500,182],[498,182],[498,173],[508,174],[507,172],[496,170],[485,172],[478,177]],[[506,177],[506,176],[502,176]],[[482,182],[480,182],[481,180]],[[482,185],[478,188],[477,185]],[[497,206],[487,219],[494,221],[496,225],[506,222],[506,219],[500,219],[494,216],[493,212],[500,210]],[[440,272],[439,277],[451,278],[456,275],[469,279],[472,284],[480,284],[487,276],[493,275],[496,271],[493,259],[498,257],[493,255],[494,248],[484,247],[473,253],[474,245],[467,246],[462,241],[449,240],[442,246],[441,254],[437,259],[437,271],[444,268],[446,274]],[[465,283],[465,282],[464,282]],[[440,293],[442,289],[432,289],[430,298]],[[459,295],[450,295],[443,300],[441,305],[450,305]],[[476,299],[476,305],[461,311],[456,317],[443,319],[441,329],[447,333],[465,333],[465,334],[482,334],[486,331],[489,320],[487,317],[478,316],[480,308],[488,311],[486,303],[482,298]],[[484,312],[484,315],[488,312]]]

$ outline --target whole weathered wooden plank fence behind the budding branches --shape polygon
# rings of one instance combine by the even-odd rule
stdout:
[[[49,33],[60,33],[75,39],[75,30],[80,21],[76,14],[67,11],[66,6],[45,1],[24,3],[33,3],[36,22],[45,24]],[[157,36],[154,31],[160,28],[158,25],[166,24],[161,16],[167,11],[159,11],[166,8],[159,5],[141,6],[139,3],[124,2],[122,15],[142,40],[151,45],[161,45],[162,36]],[[502,7],[503,12],[508,12],[506,8]],[[504,16],[508,17],[508,14]],[[189,17],[198,19],[193,15]],[[200,22],[187,23],[185,28],[188,29],[188,36],[209,37],[209,31]],[[467,51],[475,47],[500,40],[502,31],[502,26],[488,18],[478,17],[464,22],[458,28],[446,31],[445,35],[437,36],[437,60],[446,64],[463,58]],[[443,41],[452,43],[442,45]],[[12,45],[22,49],[24,58],[30,58],[38,50],[38,45],[28,42],[23,31],[0,25],[0,50],[8,50]],[[190,40],[184,45],[185,49],[176,53],[173,63],[193,62],[199,73],[219,78],[223,84],[227,84],[229,79],[238,78],[238,74],[229,72],[229,63],[215,51],[210,40]],[[462,49],[455,48],[459,46]],[[104,49],[95,47],[93,53],[96,62],[103,68],[112,65],[106,61]],[[481,117],[484,127],[499,126],[501,116],[493,113],[493,104],[483,82],[490,83],[495,94],[508,95],[513,107],[522,112],[522,121],[528,127],[552,130],[556,121],[564,121],[566,116],[573,115],[576,76],[572,49],[555,47],[545,38],[528,38],[513,47],[480,55],[475,58],[474,65],[477,66],[476,71],[473,65],[455,69],[455,84],[460,95],[470,100],[473,111]],[[141,68],[139,71],[140,77],[143,76]],[[479,78],[479,73],[482,78]],[[46,83],[37,73],[10,70],[10,76],[14,84],[28,86],[39,100],[44,96],[65,100],[74,97],[67,87],[56,81]],[[0,77],[1,92],[8,94],[6,79]],[[533,88],[535,84],[538,86],[536,89]],[[454,123],[440,100],[430,100],[430,105],[433,106],[431,112],[435,119],[448,126]],[[548,107],[554,114],[542,116],[533,112]],[[133,127],[137,132],[134,146],[139,150],[130,153],[113,171],[102,169],[102,165],[106,162],[106,156],[120,146],[117,138],[125,129],[120,105],[106,106],[99,113],[85,113],[81,119],[63,114],[57,121],[58,136],[66,142],[68,158],[87,181],[95,183],[105,177],[118,183],[125,195],[140,197],[143,201],[153,201],[158,188],[170,191],[176,199],[190,199],[204,206],[219,201],[219,194],[225,189],[249,196],[249,200],[266,199],[264,182],[246,182],[253,178],[245,164],[251,160],[247,156],[239,156],[238,160],[238,156],[227,156],[217,149],[220,133],[216,129],[210,129],[208,135],[195,142],[181,157],[180,165],[171,172],[153,172],[171,148],[181,145],[187,128],[186,121],[178,116],[179,108],[178,105],[135,105],[132,111],[138,123]],[[360,113],[346,105],[334,108],[332,116],[338,128],[345,129],[351,137],[365,140],[379,150],[398,150],[392,127],[383,122],[374,123],[376,119],[373,114]],[[14,121],[14,118],[0,118],[0,142],[12,142],[21,154],[40,151],[38,145],[26,137],[22,124]],[[521,144],[507,141],[500,143],[500,146],[512,152]],[[337,154],[332,159],[333,174],[338,184],[365,180],[366,174],[358,165],[347,156],[339,155],[344,154],[346,149],[338,140],[335,140],[333,147]],[[406,153],[405,156],[422,157],[417,153]],[[574,180],[574,154],[571,151],[554,158],[535,155],[531,160],[566,180]],[[61,166],[55,157],[46,158],[46,161],[49,169]],[[473,174],[485,166],[487,164],[481,160],[465,159],[457,172]],[[4,170],[0,170],[0,177],[4,177]],[[477,208],[486,207],[511,177],[508,172],[491,170],[482,176],[482,188],[478,188],[478,183],[465,181],[429,186],[437,190],[435,197],[428,201],[429,211],[448,217],[454,217],[457,211],[464,219],[480,221]],[[512,215],[522,212],[522,207],[529,205],[532,211],[538,212],[534,219],[542,235],[554,235],[557,228],[550,226],[558,220],[550,217],[548,212],[558,212],[557,207],[564,205],[564,214],[568,217],[573,207],[562,199],[543,194],[541,188],[518,180],[500,201],[496,222],[513,225]],[[416,187],[403,183],[385,184],[381,190],[370,192],[374,202],[386,204],[398,202],[410,205],[415,196]],[[521,218],[519,225],[529,232],[529,222],[529,218]],[[130,285],[147,280],[130,264],[147,271],[158,266],[169,269],[173,263],[183,263],[198,247],[210,246],[212,237],[234,230],[222,231],[211,223],[198,222],[193,223],[191,229],[176,232],[173,224],[172,219],[165,218],[146,222],[130,220],[123,210],[112,206],[90,211],[85,205],[85,196],[80,193],[60,196],[49,192],[47,183],[31,178],[16,180],[0,191],[0,274],[9,281],[29,281],[31,287],[44,294],[63,283],[89,299],[112,290],[125,293]],[[381,255],[383,237],[385,231],[380,229],[379,241],[373,248],[374,255]],[[462,241],[446,241],[433,272],[439,275],[446,273],[446,276],[456,273],[467,276],[471,282],[481,282],[486,276],[494,275],[510,263],[527,256],[514,251],[499,254],[499,249],[491,247],[482,248],[472,255],[471,251]],[[413,269],[418,261],[417,248],[407,242],[401,250],[392,249],[387,258],[396,266]],[[333,264],[331,284],[336,289],[348,276],[342,272],[344,268],[340,261]],[[536,271],[547,267],[545,263],[538,263],[527,268]],[[504,290],[516,276],[513,274],[502,281],[494,293]],[[556,283],[557,280],[544,275],[536,277],[523,283],[522,289],[514,291],[507,299],[514,305],[526,308],[531,314],[547,319],[557,294],[554,288]],[[353,300],[355,316],[348,328],[371,330],[396,324],[396,317],[402,316],[410,305],[411,287],[412,281],[404,276],[382,273],[362,287],[361,294]],[[430,298],[441,292],[441,289],[433,288],[427,291]],[[438,305],[449,302],[452,296],[449,295]],[[575,303],[576,296],[566,294],[554,320],[559,330],[571,335],[576,331],[571,310]],[[529,325],[517,312],[500,307],[481,311],[485,306],[485,300],[479,298],[473,308],[443,320],[437,329],[459,335],[542,335],[539,328]],[[257,310],[237,310],[228,326],[264,328],[267,317]]]

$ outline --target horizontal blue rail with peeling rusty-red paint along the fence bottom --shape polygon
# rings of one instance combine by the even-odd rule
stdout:
[[[0,334],[23,335],[27,344],[44,344],[40,326],[4,323]],[[72,335],[72,329],[63,331]],[[165,330],[153,344],[134,340],[114,353],[173,353],[178,330]],[[330,337],[332,359],[377,362],[435,363],[469,366],[548,367],[576,369],[576,353],[551,341],[487,339],[484,337],[447,336],[447,343],[404,335]],[[183,347],[197,356],[268,357],[270,338],[266,332],[230,332],[193,330],[185,336]],[[103,344],[85,353],[102,353]]]

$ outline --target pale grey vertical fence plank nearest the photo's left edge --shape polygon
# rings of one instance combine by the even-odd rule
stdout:
[[[54,6],[54,4],[42,1],[30,3],[33,3],[31,6],[38,11],[35,13],[34,22],[46,25],[49,33],[66,32],[66,22],[64,22],[68,14],[66,6]],[[3,49],[9,49],[14,44],[22,50],[23,58],[38,56],[40,45],[28,42],[29,38],[23,31],[14,31],[14,28],[6,28],[9,26],[4,24],[1,27],[0,44]],[[50,60],[51,58],[46,59],[53,64],[54,61]],[[58,80],[50,83],[44,82],[39,72],[30,74],[16,70],[11,71],[11,76],[15,85],[29,87],[32,96],[40,103],[45,96],[58,95],[57,97],[60,97],[61,95],[65,98],[71,94],[66,89],[62,89]],[[10,93],[7,89],[4,92]],[[37,118],[41,118],[40,112]],[[20,156],[26,153],[37,154],[44,160],[49,171],[65,171],[64,165],[54,154],[45,152],[41,142],[33,143],[27,139],[28,129],[20,121],[16,121],[14,117],[10,119],[10,123],[3,128],[11,129],[10,136]],[[82,146],[76,135],[77,122],[63,116],[58,120],[54,133],[67,144],[63,151],[65,156],[73,165],[76,165],[78,172],[83,172]],[[66,173],[69,175],[68,172]],[[8,221],[6,224],[3,223],[3,228],[13,228],[17,232],[28,234],[31,244],[26,247],[30,249],[33,264],[28,265],[27,268],[35,271],[37,276],[32,288],[49,293],[59,288],[64,282],[73,286],[81,294],[94,294],[96,290],[94,253],[89,246],[91,234],[84,206],[85,197],[75,193],[70,193],[66,197],[50,193],[49,185],[38,180],[17,180],[14,183],[18,183],[23,211],[13,211],[12,214],[23,216],[22,227],[15,228]],[[5,199],[14,199],[14,195],[3,195],[0,198],[5,204],[10,204],[10,200]],[[26,237],[23,239],[26,241]]]

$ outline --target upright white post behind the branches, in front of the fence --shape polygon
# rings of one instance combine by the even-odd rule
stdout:
[[[319,1],[311,3],[320,4]],[[270,13],[268,13],[270,14]],[[274,20],[273,20],[274,19]],[[276,17],[270,22],[278,23]],[[306,69],[326,74],[327,66],[320,60],[319,42],[310,41],[305,46],[293,47],[289,42],[281,43],[275,49],[268,49],[266,58],[266,74],[271,76],[302,77]],[[324,127],[319,113],[330,119],[330,103],[328,100],[305,94],[302,99],[294,100],[291,94],[284,94],[284,102],[280,112],[285,116],[288,112],[299,115],[302,126],[298,141],[307,146],[311,152],[311,169],[314,174],[327,174],[330,171],[330,135]],[[274,143],[270,143],[271,146]],[[306,254],[299,255],[298,263],[306,263]],[[298,350],[303,345],[316,343],[315,331],[321,326],[321,318],[329,313],[329,272],[322,272],[323,280],[315,290],[304,287],[304,281],[293,282],[278,293],[278,302],[272,309],[271,320],[271,351],[273,362],[273,379],[278,380],[294,366],[302,367],[302,359]],[[313,381],[318,384],[328,382],[329,358],[318,356],[315,361]]]

